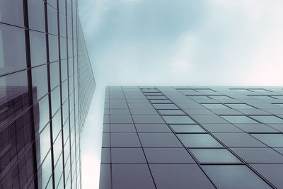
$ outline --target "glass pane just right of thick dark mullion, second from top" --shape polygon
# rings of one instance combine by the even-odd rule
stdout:
[[[32,67],[47,63],[45,33],[30,30],[30,59]]]

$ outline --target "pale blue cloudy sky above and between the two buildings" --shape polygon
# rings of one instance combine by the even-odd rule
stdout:
[[[105,86],[282,86],[282,9],[282,0],[79,0],[97,84],[83,188],[98,188]]]

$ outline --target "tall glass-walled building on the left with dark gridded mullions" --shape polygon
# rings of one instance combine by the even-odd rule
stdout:
[[[91,70],[76,0],[0,1],[0,188],[81,188]]]

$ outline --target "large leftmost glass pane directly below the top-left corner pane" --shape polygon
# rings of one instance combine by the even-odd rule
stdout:
[[[24,32],[22,28],[0,23],[0,74],[26,68]]]

